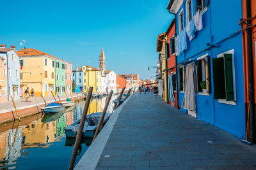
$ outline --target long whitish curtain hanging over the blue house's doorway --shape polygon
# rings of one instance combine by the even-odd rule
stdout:
[[[182,108],[186,110],[196,111],[195,103],[195,64],[189,64],[186,67],[186,78],[185,78],[185,94],[183,98]]]

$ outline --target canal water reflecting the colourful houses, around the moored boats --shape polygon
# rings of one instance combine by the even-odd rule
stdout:
[[[112,97],[108,111],[113,110],[116,97]],[[105,101],[106,97],[92,99],[88,113],[102,111]],[[83,106],[80,102],[61,113],[38,114],[0,125],[0,168],[68,169],[75,140],[65,137],[65,128],[81,118]],[[91,143],[92,138],[83,139],[75,165]]]

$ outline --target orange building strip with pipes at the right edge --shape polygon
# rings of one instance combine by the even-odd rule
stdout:
[[[256,1],[243,0],[243,59],[246,140],[256,143]]]

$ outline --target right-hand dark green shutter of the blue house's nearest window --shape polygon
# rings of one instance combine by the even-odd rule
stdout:
[[[226,100],[234,101],[232,54],[224,54]]]

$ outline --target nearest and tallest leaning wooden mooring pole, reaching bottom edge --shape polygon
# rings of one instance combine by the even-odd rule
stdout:
[[[86,98],[86,101],[85,101],[85,104],[84,104],[83,115],[82,115],[81,120],[80,120],[80,125],[79,125],[79,129],[78,129],[77,136],[76,136],[76,142],[75,142],[75,145],[74,145],[74,149],[73,149],[73,152],[72,152],[72,157],[71,157],[70,164],[69,164],[69,167],[68,167],[69,170],[72,170],[73,167],[74,167],[74,163],[75,163],[75,160],[76,160],[77,149],[79,148],[79,145],[80,145],[80,142],[81,142],[81,137],[82,137],[83,128],[84,128],[84,122],[86,120],[86,115],[87,115],[89,104],[90,104],[91,97],[92,97],[92,90],[93,90],[93,87],[90,87],[87,98]]]

